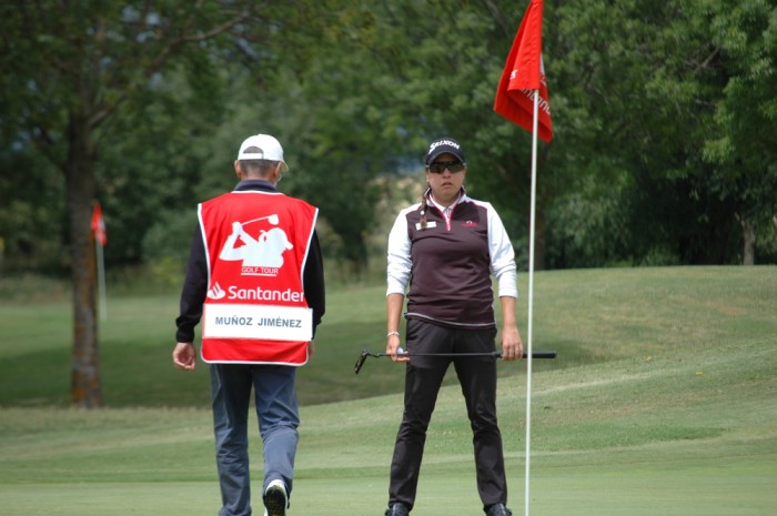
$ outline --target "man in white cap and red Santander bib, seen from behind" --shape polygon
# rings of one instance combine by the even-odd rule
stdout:
[[[175,367],[194,371],[194,327],[211,375],[220,516],[250,516],[251,389],[262,437],[265,516],[284,516],[293,487],[300,414],[295,376],[315,351],[324,315],[319,210],[278,191],[289,171],[273,136],[248,138],[232,192],[198,206],[175,320]],[[261,293],[261,295],[260,295]],[[269,323],[272,321],[272,323]]]

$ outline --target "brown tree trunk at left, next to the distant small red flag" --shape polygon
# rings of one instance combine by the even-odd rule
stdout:
[[[70,257],[73,282],[73,354],[71,402],[101,407],[102,386],[98,353],[97,265],[91,211],[95,194],[94,145],[85,115],[71,115],[67,178]]]

